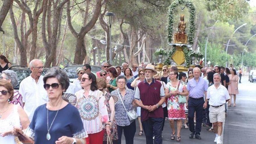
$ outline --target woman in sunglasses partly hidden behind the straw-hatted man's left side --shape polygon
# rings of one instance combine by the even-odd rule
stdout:
[[[138,77],[136,77],[134,79],[134,81],[131,83],[131,87],[134,88],[134,91],[136,90],[136,87],[137,85],[141,82],[141,81],[144,81],[145,79],[145,73],[142,71],[142,70],[139,70],[138,72]],[[139,136],[142,136],[143,135],[143,126],[142,126],[142,123],[141,123],[141,107],[136,107],[136,113],[138,115],[138,122],[139,122],[139,125],[140,125],[140,131],[139,131]]]

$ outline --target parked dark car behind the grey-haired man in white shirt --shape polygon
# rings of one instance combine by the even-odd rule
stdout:
[[[19,84],[21,83],[21,81],[31,74],[31,70],[28,67],[22,65],[11,66],[8,68],[8,70],[13,70],[18,75],[17,85],[13,87],[15,90],[19,90]],[[42,75],[45,75],[47,73],[47,70],[49,70],[49,68],[43,68]]]

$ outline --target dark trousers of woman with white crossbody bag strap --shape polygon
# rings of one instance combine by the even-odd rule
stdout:
[[[127,126],[117,126],[117,133],[118,133],[118,144],[121,144],[122,140],[122,133],[124,131],[125,135],[125,143],[126,144],[133,144],[134,135],[136,132],[136,123],[135,120],[130,125]]]

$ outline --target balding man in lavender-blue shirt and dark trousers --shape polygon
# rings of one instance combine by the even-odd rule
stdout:
[[[187,109],[189,109],[189,138],[193,138],[195,134],[195,138],[201,139],[200,131],[202,128],[202,114],[203,109],[207,108],[207,81],[200,77],[200,69],[195,67],[193,69],[193,79],[188,81],[187,90],[189,91],[189,99],[186,103]],[[205,94],[205,102],[204,102],[204,94]],[[194,113],[196,114],[196,125],[194,126]]]

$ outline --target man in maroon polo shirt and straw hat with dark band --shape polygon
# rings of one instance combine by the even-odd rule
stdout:
[[[163,108],[165,93],[162,84],[153,79],[157,74],[154,65],[148,64],[143,70],[145,80],[138,84],[135,91],[135,103],[141,109],[141,123],[145,131],[146,143],[162,144],[162,125],[163,125]],[[141,102],[139,100],[141,99]]]

